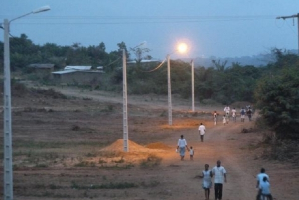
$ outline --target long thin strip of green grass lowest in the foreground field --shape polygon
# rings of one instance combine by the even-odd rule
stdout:
[[[72,182],[71,189],[76,190],[101,190],[101,189],[128,189],[128,188],[138,188],[139,186],[135,183],[120,182],[120,183],[105,183],[100,185],[78,185]]]

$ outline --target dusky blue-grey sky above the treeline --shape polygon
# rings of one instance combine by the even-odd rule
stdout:
[[[25,33],[41,45],[104,42],[108,53],[122,41],[127,47],[147,41],[144,47],[157,59],[175,51],[180,41],[188,43],[188,53],[171,58],[298,49],[298,19],[276,17],[297,14],[299,0],[1,0],[0,20],[44,5],[51,10],[11,22],[10,34]]]

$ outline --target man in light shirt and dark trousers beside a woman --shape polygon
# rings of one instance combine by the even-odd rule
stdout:
[[[214,176],[215,200],[222,200],[223,181],[226,183],[226,170],[221,166],[221,161],[217,161],[217,165],[212,169]],[[223,180],[224,177],[224,180]]]

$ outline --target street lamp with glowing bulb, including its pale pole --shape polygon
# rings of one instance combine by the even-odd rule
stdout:
[[[187,45],[181,43],[178,45],[177,50],[180,53],[184,53],[187,50]],[[174,51],[173,53],[175,53]],[[172,54],[172,53],[171,53]],[[171,105],[171,81],[170,81],[170,54],[167,54],[167,86],[168,86],[168,124],[172,126],[172,105]]]

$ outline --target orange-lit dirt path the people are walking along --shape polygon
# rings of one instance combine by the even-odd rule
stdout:
[[[227,171],[228,182],[224,184],[223,200],[236,200],[240,197],[242,200],[255,198],[255,178],[253,175],[257,172],[247,166],[250,160],[242,154],[242,150],[237,144],[238,134],[244,125],[250,126],[251,124],[238,122],[226,126],[217,124],[207,127],[203,143],[199,141],[199,134],[196,130],[184,133],[188,146],[192,146],[195,151],[194,161],[190,161],[189,155],[186,153],[185,161],[180,162],[179,155],[173,153],[173,157],[167,160],[167,164],[180,166],[180,170],[176,173],[177,176],[173,176],[173,181],[180,186],[187,186],[187,190],[182,191],[186,199],[204,199],[204,192],[200,188],[202,180],[194,179],[194,177],[201,174],[204,164],[208,163],[212,169],[218,159],[221,160]],[[173,140],[177,138],[173,138]],[[166,143],[171,145],[168,139]],[[214,191],[212,189],[210,199],[213,198]]]

